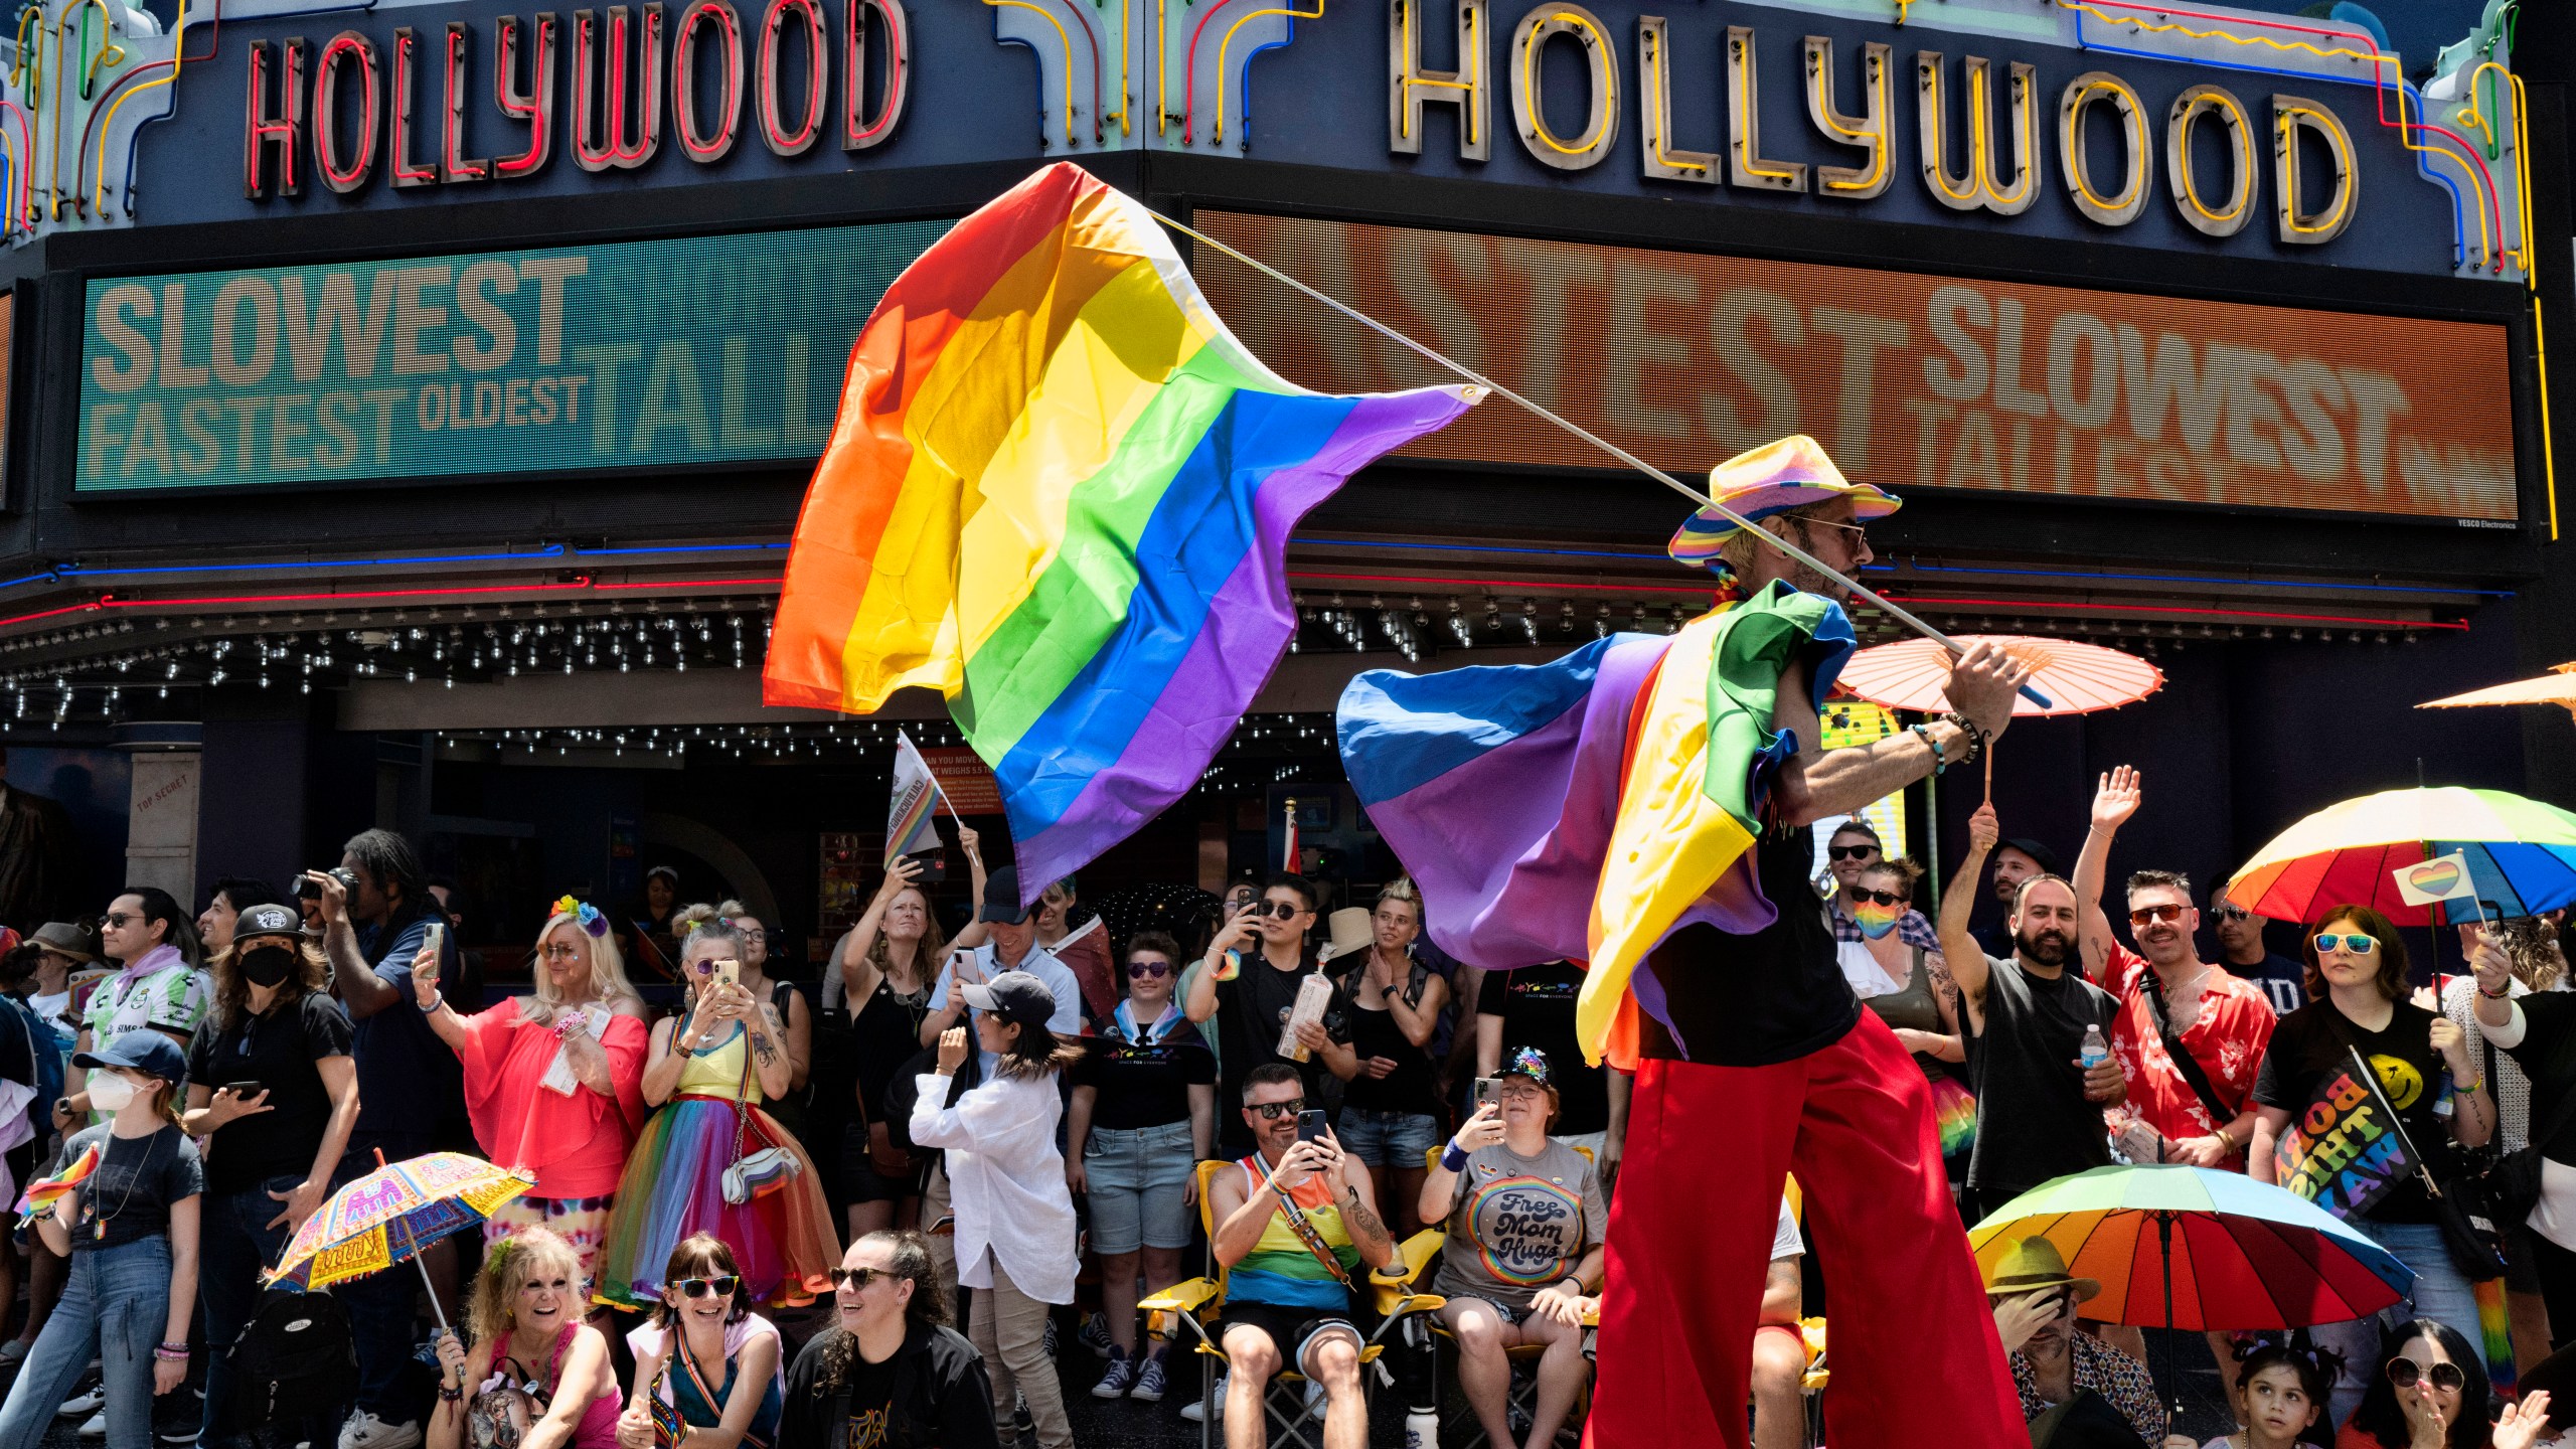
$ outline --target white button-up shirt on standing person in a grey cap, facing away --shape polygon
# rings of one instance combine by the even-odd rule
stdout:
[[[925,1073],[912,1104],[912,1142],[948,1152],[958,1281],[992,1287],[984,1250],[1012,1287],[1038,1302],[1074,1302],[1074,1194],[1064,1186],[1056,1078],[987,1078],[956,1106],[948,1078]]]

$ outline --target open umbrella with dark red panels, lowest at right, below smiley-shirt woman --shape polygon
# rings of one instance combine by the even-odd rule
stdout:
[[[2092,1168],[2040,1183],[1968,1230],[1978,1276],[2025,1238],[2097,1279],[2084,1318],[2138,1328],[2306,1328],[2367,1318],[2414,1271],[2313,1201],[2244,1173]],[[2166,1377],[2174,1382],[2172,1346]]]

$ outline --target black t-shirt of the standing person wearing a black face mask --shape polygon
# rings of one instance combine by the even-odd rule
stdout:
[[[206,1191],[250,1191],[281,1173],[304,1176],[330,1127],[322,1057],[348,1057],[348,1011],[325,993],[307,993],[268,1016],[242,1013],[229,1029],[198,1024],[188,1044],[188,1080],[209,1091],[232,1083],[268,1088],[268,1111],[237,1116],[206,1137]]]

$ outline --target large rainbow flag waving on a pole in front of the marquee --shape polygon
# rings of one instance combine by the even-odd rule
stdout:
[[[1296,629],[1298,518],[1473,402],[1280,379],[1136,201],[1056,162],[958,222],[860,330],[762,699],[863,714],[945,694],[1036,897],[1234,732]]]

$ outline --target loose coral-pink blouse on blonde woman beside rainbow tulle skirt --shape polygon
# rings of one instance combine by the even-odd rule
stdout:
[[[564,1096],[544,1085],[559,1042],[551,1026],[518,1013],[520,998],[466,1016],[459,1047],[466,1067],[466,1114],[487,1158],[536,1173],[531,1196],[585,1199],[618,1191],[626,1155],[652,1114],[644,1106],[649,1034],[634,1016],[611,1016],[600,1047],[616,1098],[587,1085]]]

